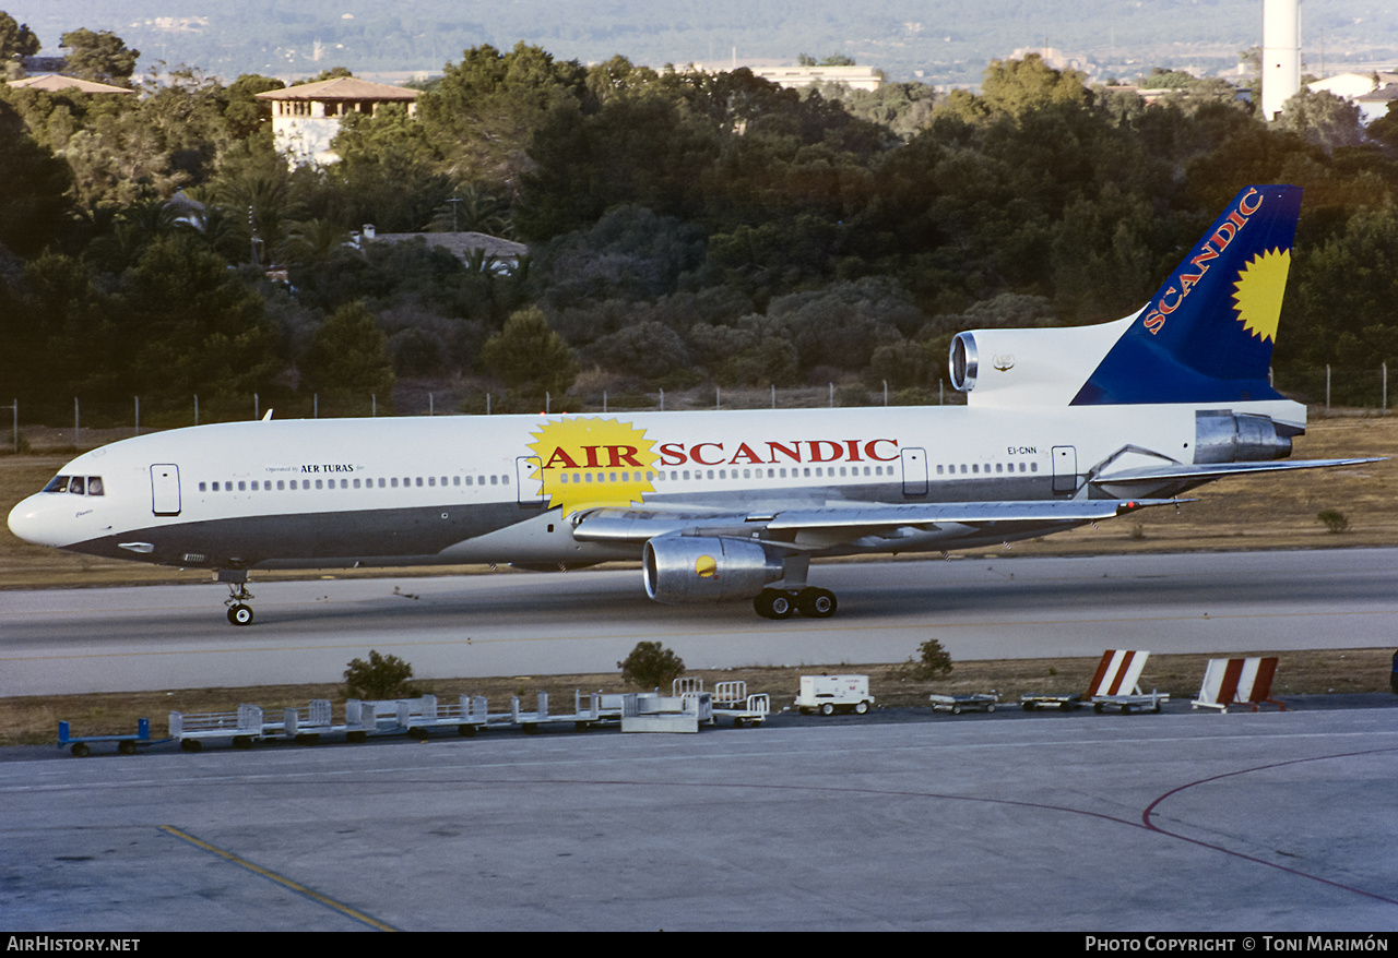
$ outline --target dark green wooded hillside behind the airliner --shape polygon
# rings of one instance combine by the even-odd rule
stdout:
[[[134,82],[119,38],[85,35],[94,75]],[[138,87],[0,88],[0,398],[31,423],[130,422],[136,397],[151,426],[194,397],[203,422],[382,415],[422,383],[498,412],[829,383],[935,401],[956,331],[1125,316],[1271,182],[1306,189],[1278,388],[1324,401],[1329,366],[1336,405],[1376,406],[1398,360],[1398,116],[1366,135],[1327,95],[1264,124],[1218,82],[1148,109],[1035,54],[976,95],[798,94],[475,46],[415,117],[351,115],[340,162],[288,169],[256,99],[281,81]],[[350,244],[362,223],[530,254]]]

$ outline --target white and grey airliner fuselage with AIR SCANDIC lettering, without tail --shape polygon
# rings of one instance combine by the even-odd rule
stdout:
[[[1190,462],[1194,440],[1190,405],[242,422],[80,455],[60,475],[85,478],[81,494],[31,496],[10,524],[31,542],[211,568],[589,563],[639,554],[575,538],[600,507],[1083,499],[1093,466]]]

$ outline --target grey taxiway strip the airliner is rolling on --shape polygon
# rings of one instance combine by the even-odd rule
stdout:
[[[373,648],[422,679],[610,672],[642,640],[691,668],[1387,648],[1398,549],[816,564],[829,620],[660,606],[636,570],[0,591],[0,697],[338,681]]]

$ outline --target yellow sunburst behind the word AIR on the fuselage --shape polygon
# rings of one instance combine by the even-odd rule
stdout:
[[[654,492],[658,458],[646,430],[617,419],[576,418],[541,423],[530,448],[538,455],[533,479],[541,480],[549,507],[563,515],[594,506],[629,506]]]

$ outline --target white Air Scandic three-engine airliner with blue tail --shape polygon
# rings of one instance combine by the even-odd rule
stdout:
[[[1123,320],[959,334],[965,406],[196,426],[77,457],[10,528],[215,570],[238,626],[252,570],[637,559],[657,602],[822,619],[812,557],[1008,543],[1369,461],[1279,461],[1306,429],[1268,383],[1300,194],[1239,193]]]

